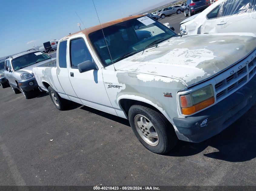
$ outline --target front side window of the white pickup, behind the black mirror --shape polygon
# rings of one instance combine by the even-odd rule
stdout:
[[[93,62],[91,54],[82,38],[70,41],[70,62],[71,67],[77,68],[77,65],[90,60]]]

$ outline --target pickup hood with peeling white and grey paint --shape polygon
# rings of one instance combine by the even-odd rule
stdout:
[[[185,35],[123,59],[115,68],[178,79],[190,87],[230,68],[255,47],[254,33]]]

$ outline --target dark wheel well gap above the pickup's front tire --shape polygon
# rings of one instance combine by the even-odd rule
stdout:
[[[130,100],[130,99],[121,99],[119,101],[120,103],[120,106],[121,108],[124,110],[125,112],[125,115],[127,116],[128,118],[128,112],[129,112],[129,109],[132,105],[141,105],[141,106],[145,106],[145,107],[148,107],[152,110],[156,110],[158,111],[159,113],[161,113],[157,108],[155,108],[154,106],[148,104],[148,103],[145,103],[145,102],[142,102],[142,101],[138,101],[138,100]]]

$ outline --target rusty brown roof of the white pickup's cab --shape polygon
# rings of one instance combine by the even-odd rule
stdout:
[[[88,35],[89,35],[90,33],[94,32],[94,31],[97,31],[97,30],[100,30],[101,27],[102,27],[102,28],[109,27],[109,26],[111,26],[111,25],[114,25],[114,24],[117,24],[117,23],[121,23],[121,22],[123,22],[123,21],[128,21],[128,20],[130,20],[130,19],[138,18],[138,17],[141,17],[141,16],[145,16],[145,15],[134,15],[134,16],[130,16],[130,17],[125,17],[125,18],[116,19],[116,20],[114,20],[114,21],[108,21],[108,22],[106,22],[106,23],[102,23],[101,25],[98,24],[98,25],[96,25],[96,26],[89,27],[89,28],[84,29],[84,30],[80,30],[80,31],[78,31],[78,32],[76,32],[76,33],[73,33],[73,34],[70,34],[70,35],[68,35],[68,36],[66,36],[66,37],[63,37],[63,38],[60,39],[60,40],[67,39],[68,37],[71,37],[71,36],[73,36],[73,35],[75,35],[75,34],[81,34],[81,33],[84,33],[85,36],[88,37]]]

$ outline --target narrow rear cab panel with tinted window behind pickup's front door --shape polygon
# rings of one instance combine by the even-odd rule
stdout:
[[[71,82],[68,78],[68,68],[67,68],[67,40],[63,40],[58,46],[58,55],[56,61],[58,64],[57,76],[61,84],[64,93],[69,97],[70,100],[82,104],[81,100],[77,98],[75,91],[71,86]],[[59,92],[60,94],[61,92]]]

